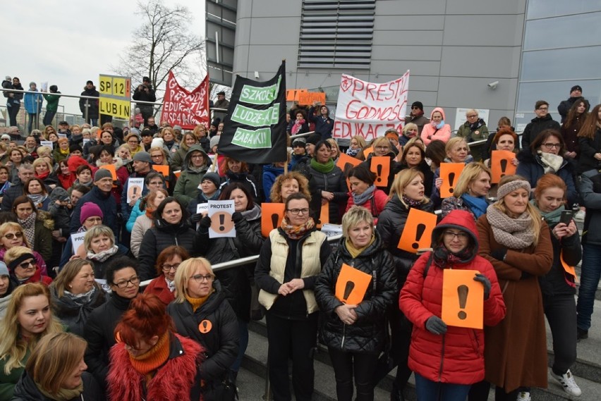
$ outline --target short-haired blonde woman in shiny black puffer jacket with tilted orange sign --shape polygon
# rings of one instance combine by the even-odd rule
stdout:
[[[338,400],[352,400],[353,370],[356,400],[373,400],[374,371],[388,338],[383,318],[395,303],[396,275],[390,254],[381,249],[370,211],[361,206],[348,209],[342,218],[342,232],[338,249],[330,255],[315,283],[315,299],[325,317],[320,341],[327,345],[332,359]],[[336,294],[337,281],[344,280],[340,276],[343,264],[371,276],[358,302],[345,300],[353,290],[348,295],[346,291]]]

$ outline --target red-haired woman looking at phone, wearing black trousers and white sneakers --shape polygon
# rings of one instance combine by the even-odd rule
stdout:
[[[578,397],[582,391],[570,371],[570,366],[576,362],[576,272],[569,273],[564,264],[576,266],[582,259],[582,248],[571,211],[564,214],[566,192],[564,180],[554,174],[545,174],[536,183],[535,199],[530,203],[549,225],[553,244],[551,270],[538,279],[542,307],[553,335],[551,376],[566,393]]]

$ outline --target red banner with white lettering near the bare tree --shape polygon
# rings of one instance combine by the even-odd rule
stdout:
[[[165,90],[161,121],[167,121],[172,127],[180,125],[184,130],[193,130],[196,125],[209,126],[209,75],[189,92],[180,86],[174,74],[169,71]]]

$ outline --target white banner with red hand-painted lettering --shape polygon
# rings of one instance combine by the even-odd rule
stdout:
[[[403,129],[409,90],[409,71],[384,83],[365,82],[342,74],[336,104],[334,138],[361,135],[368,142],[389,128]]]

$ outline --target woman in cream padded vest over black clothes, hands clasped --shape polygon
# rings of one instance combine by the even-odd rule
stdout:
[[[269,233],[255,267],[259,302],[267,308],[267,359],[274,401],[291,400],[291,351],[296,400],[310,400],[313,393],[318,314],[313,288],[331,249],[309,212],[309,199],[303,193],[286,198],[281,226]]]

